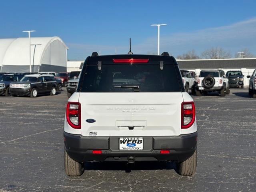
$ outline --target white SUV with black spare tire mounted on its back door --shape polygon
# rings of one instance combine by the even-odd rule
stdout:
[[[197,82],[196,96],[202,93],[219,92],[224,97],[230,93],[228,78],[223,70],[202,70]]]

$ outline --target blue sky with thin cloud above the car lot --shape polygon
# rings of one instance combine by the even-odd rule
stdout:
[[[84,60],[93,51],[126,54],[128,39],[138,54],[160,52],[177,56],[213,46],[256,54],[255,0],[20,0],[0,2],[0,38],[59,36],[69,47],[68,59]]]

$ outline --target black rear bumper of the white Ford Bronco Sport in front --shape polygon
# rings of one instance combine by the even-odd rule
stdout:
[[[120,151],[119,137],[80,136],[64,132],[65,150],[77,162],[88,161],[185,161],[196,150],[197,132],[180,136],[145,136],[143,151]],[[92,154],[102,150],[102,154]],[[160,150],[170,150],[160,154]]]

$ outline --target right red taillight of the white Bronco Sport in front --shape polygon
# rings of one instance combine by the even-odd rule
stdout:
[[[196,109],[194,102],[182,102],[181,104],[181,128],[187,129],[194,124]]]

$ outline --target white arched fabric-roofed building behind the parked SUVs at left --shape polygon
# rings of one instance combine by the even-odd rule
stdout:
[[[0,71],[66,72],[68,47],[59,37],[32,37],[29,58],[28,38],[0,39]]]

